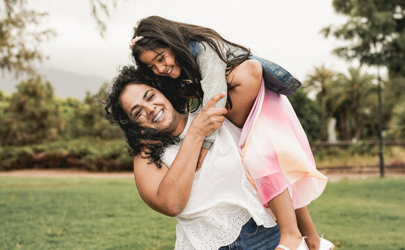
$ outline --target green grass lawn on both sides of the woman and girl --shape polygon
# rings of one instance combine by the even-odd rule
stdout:
[[[405,179],[328,183],[309,206],[335,249],[405,249]],[[0,249],[173,249],[133,179],[0,178]]]

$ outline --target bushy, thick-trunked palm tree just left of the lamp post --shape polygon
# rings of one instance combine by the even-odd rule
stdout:
[[[363,117],[370,115],[374,103],[370,95],[375,94],[375,79],[363,74],[361,67],[349,68],[349,75],[337,74],[333,92],[328,93],[331,110],[337,113],[342,139],[360,139],[363,135]],[[374,104],[375,105],[375,104]]]

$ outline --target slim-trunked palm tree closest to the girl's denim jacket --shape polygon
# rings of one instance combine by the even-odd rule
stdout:
[[[321,130],[319,131],[319,139],[326,140],[326,119],[328,118],[326,112],[326,102],[328,99],[328,90],[333,86],[335,81],[335,72],[331,69],[321,65],[314,67],[312,74],[308,74],[305,79],[304,90],[306,92],[317,93],[317,99],[321,102]]]

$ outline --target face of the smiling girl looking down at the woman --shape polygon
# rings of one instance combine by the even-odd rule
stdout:
[[[177,78],[182,72],[182,67],[175,60],[175,54],[169,48],[143,50],[138,57],[158,76]]]

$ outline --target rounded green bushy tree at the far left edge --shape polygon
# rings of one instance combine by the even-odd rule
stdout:
[[[1,143],[23,145],[58,138],[61,124],[51,84],[31,78],[16,87],[0,120]]]

